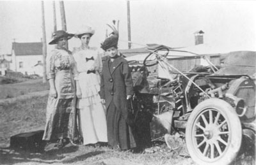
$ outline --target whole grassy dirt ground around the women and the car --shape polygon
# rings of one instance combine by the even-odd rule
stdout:
[[[71,144],[59,149],[54,147],[55,143],[47,145],[45,152],[41,154],[10,148],[11,136],[44,129],[47,97],[47,91],[44,91],[0,99],[0,164],[195,164],[186,153],[185,144],[170,150],[161,141],[155,141],[156,143],[148,149],[148,152],[142,153]],[[255,165],[255,156],[241,154],[233,164]]]

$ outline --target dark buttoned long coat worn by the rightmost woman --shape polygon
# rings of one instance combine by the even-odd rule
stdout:
[[[100,97],[106,100],[108,110],[111,101],[127,119],[127,95],[133,94],[132,76],[128,62],[123,57],[116,58],[109,68],[110,58],[102,61],[102,74],[100,76]]]

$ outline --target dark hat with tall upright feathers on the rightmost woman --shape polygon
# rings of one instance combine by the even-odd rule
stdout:
[[[119,25],[119,20],[117,21],[117,28],[115,27],[116,25],[116,21],[113,20],[113,24],[114,25],[109,25],[107,24],[112,30],[113,32],[111,32],[110,36],[108,38],[105,39],[105,41],[103,41],[102,43],[100,43],[100,48],[102,48],[103,50],[107,50],[108,48],[111,47],[117,47],[118,45],[118,25]]]

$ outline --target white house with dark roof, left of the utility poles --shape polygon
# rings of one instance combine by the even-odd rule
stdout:
[[[42,43],[12,43],[10,69],[26,75],[43,75]]]

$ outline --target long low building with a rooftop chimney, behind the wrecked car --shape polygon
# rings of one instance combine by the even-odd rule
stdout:
[[[196,31],[194,32],[194,35],[195,45],[191,47],[168,47],[170,52],[167,57],[167,62],[169,64],[172,64],[172,66],[174,66],[175,68],[179,69],[179,71],[186,72],[195,68],[195,66],[209,65],[208,62],[203,58],[206,56],[207,59],[209,59],[209,61],[211,61],[212,64],[220,66],[221,51],[218,52],[219,50],[215,47],[211,47],[211,45],[207,45],[204,43],[204,31]],[[147,55],[150,54],[150,50],[156,50],[156,48],[163,47],[164,45],[150,44],[147,46],[148,47],[120,50],[120,52],[127,57],[127,60],[132,61],[132,59],[134,59],[136,61],[143,62],[145,57],[147,57]],[[157,70],[159,72],[159,67],[152,66],[149,67],[148,70],[151,73],[156,72]]]

